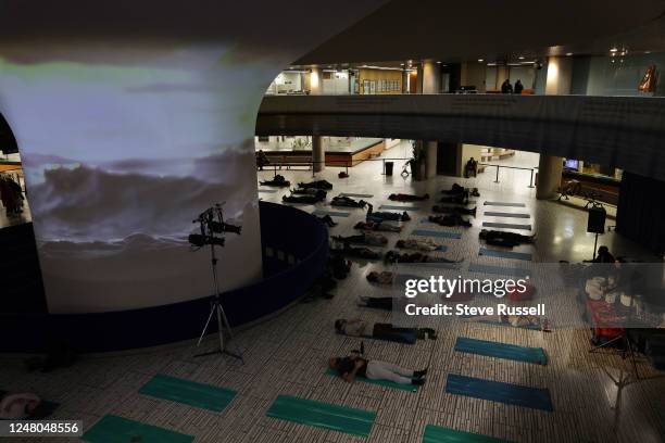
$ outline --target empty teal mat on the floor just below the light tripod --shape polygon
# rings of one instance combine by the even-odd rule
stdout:
[[[198,383],[175,377],[156,375],[139,390],[139,394],[171,400],[190,406],[221,413],[233,402],[236,391]]]

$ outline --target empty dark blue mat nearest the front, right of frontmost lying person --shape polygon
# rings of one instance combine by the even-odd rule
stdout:
[[[550,391],[547,388],[528,388],[520,384],[449,374],[446,381],[446,392],[509,405],[530,407],[549,413],[554,410],[552,400],[550,398]]]

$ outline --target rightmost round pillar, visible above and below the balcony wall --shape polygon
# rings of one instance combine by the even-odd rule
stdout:
[[[545,96],[565,96],[570,93],[573,79],[573,59],[551,56],[548,60]],[[538,185],[536,198],[549,200],[556,197],[561,187],[563,157],[540,154],[538,162]]]

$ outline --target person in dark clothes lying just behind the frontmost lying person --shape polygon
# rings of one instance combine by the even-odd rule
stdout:
[[[431,328],[399,328],[391,324],[369,325],[360,318],[347,320],[340,318],[335,321],[337,333],[351,337],[367,337],[376,340],[394,341],[413,344],[416,340],[437,340],[437,332]]]

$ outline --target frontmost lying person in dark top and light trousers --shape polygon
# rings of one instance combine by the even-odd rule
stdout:
[[[427,369],[413,370],[392,363],[363,358],[359,353],[347,357],[330,357],[328,365],[347,382],[353,383],[356,377],[369,380],[387,380],[399,384],[425,384]]]

